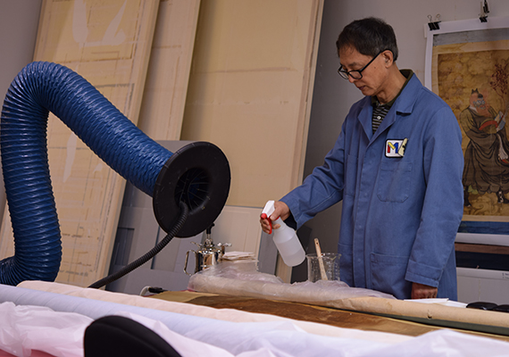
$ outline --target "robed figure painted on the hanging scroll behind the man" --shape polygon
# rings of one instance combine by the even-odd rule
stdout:
[[[509,142],[505,113],[496,112],[478,89],[472,89],[470,106],[460,114],[460,123],[470,139],[464,154],[464,205],[470,195],[496,194],[497,203],[509,203]]]

